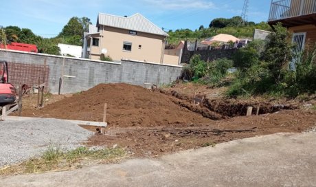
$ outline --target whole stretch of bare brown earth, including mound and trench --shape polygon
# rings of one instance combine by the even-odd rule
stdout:
[[[36,95],[25,96],[22,115],[102,121],[106,103],[108,126],[102,133],[97,127],[82,126],[95,132],[85,144],[122,146],[135,153],[134,157],[157,157],[245,137],[309,131],[316,126],[315,98],[236,100],[226,99],[223,91],[225,88],[192,83],[154,90],[102,84],[73,95],[46,95],[41,109],[36,109]],[[194,104],[194,95],[203,98],[203,106]],[[245,116],[247,107],[253,107],[253,115]]]

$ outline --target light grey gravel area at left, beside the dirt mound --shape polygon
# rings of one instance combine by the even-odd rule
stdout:
[[[0,122],[0,167],[40,155],[52,144],[71,149],[93,133],[56,119]]]

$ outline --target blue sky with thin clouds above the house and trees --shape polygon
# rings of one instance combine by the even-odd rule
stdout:
[[[35,34],[56,36],[71,17],[89,17],[95,24],[98,12],[119,16],[141,13],[166,30],[208,27],[214,18],[240,16],[244,0],[8,0],[0,6],[0,25],[30,28]],[[248,20],[267,21],[271,0],[249,0]]]

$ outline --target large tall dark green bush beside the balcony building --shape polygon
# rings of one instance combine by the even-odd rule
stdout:
[[[297,73],[286,71],[284,67],[291,61],[292,52],[293,45],[286,28],[282,28],[280,24],[275,25],[275,32],[269,34],[267,43],[253,41],[234,56],[234,64],[240,69],[240,72],[228,89],[227,95],[236,97],[247,93],[280,96],[288,91],[295,95],[297,91],[302,90],[301,86],[304,85],[297,82],[299,78],[296,76],[303,78],[304,76],[299,74],[303,69],[308,69],[310,63],[297,65],[300,69],[303,64],[308,64],[308,67],[302,67],[302,70]],[[308,76],[308,78],[310,77]],[[306,81],[306,78],[303,79],[301,82]]]

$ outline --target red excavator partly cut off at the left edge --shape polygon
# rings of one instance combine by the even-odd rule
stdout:
[[[0,61],[0,106],[10,104],[16,100],[16,90],[9,83],[8,63]]]

